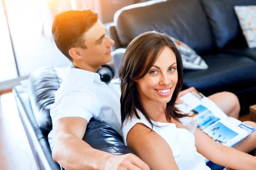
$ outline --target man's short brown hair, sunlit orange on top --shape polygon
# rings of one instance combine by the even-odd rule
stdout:
[[[70,61],[70,48],[86,48],[83,35],[98,21],[98,14],[90,9],[64,11],[55,15],[52,35],[58,49]]]

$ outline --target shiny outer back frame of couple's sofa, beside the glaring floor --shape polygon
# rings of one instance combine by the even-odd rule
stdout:
[[[38,126],[31,108],[28,88],[19,85],[12,89],[20,115],[20,120],[29,140],[38,170],[60,170],[58,163],[52,159],[52,151],[47,135]]]

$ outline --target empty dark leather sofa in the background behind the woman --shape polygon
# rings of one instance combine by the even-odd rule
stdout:
[[[184,70],[183,89],[194,86],[206,96],[233,92],[240,115],[249,113],[256,104],[256,48],[247,47],[239,26],[234,6],[240,5],[256,5],[256,0],[154,0],[120,9],[107,28],[115,40],[116,70],[134,37],[161,31],[189,45],[209,65],[208,70]]]

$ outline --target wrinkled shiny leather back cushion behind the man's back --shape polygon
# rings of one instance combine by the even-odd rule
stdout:
[[[58,67],[42,67],[29,76],[29,99],[38,126],[45,134],[52,130],[50,109],[64,73]]]

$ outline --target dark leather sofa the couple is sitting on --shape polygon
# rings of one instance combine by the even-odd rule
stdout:
[[[59,68],[44,67],[34,71],[26,85],[18,85],[12,90],[38,170],[61,170],[60,165],[52,159],[52,119],[49,114],[61,82]],[[114,155],[134,153],[112,127],[98,120],[90,120],[83,140],[95,149]],[[212,162],[207,165],[212,170],[224,168]]]

